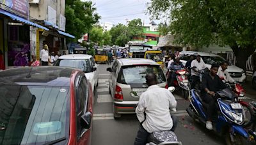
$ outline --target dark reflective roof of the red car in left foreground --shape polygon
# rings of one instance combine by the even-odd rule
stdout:
[[[70,67],[20,67],[0,72],[0,85],[70,86],[78,69]]]

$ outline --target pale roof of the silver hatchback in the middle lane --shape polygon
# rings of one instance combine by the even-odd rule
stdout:
[[[131,66],[131,65],[140,65],[140,64],[149,64],[149,65],[157,65],[156,62],[154,62],[151,59],[140,59],[140,58],[130,58],[130,59],[117,59],[118,62],[120,62],[121,66]]]

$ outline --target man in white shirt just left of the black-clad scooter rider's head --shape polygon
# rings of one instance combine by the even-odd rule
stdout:
[[[201,70],[205,69],[205,63],[203,60],[201,60],[201,56],[197,55],[196,59],[191,62],[191,88],[195,88],[196,83],[200,81],[200,72]]]

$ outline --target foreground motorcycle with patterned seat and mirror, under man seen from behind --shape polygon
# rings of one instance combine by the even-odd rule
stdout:
[[[170,86],[168,88],[170,92],[173,92],[175,88]],[[146,145],[164,145],[164,144],[172,144],[172,145],[182,145],[182,142],[178,141],[177,136],[172,131],[160,131],[153,132],[148,135],[148,143]]]

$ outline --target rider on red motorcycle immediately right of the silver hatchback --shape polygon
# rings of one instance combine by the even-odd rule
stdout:
[[[173,84],[173,81],[176,79],[176,71],[179,71],[181,69],[186,69],[186,71],[188,71],[188,69],[182,64],[182,62],[180,62],[180,58],[177,57],[175,59],[174,62],[172,62],[171,66],[170,66],[170,71],[173,71],[171,75],[168,75],[170,77],[170,84],[168,84],[168,86],[171,86]]]

